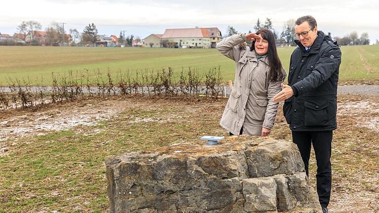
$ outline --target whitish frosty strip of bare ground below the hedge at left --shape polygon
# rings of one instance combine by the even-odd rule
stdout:
[[[121,109],[114,103],[74,105],[69,108],[47,109],[0,120],[0,141],[69,130],[77,126],[94,126],[112,119]]]

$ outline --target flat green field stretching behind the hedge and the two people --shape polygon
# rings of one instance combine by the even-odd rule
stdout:
[[[286,70],[294,47],[278,48]],[[379,45],[342,46],[340,79],[379,78]],[[197,68],[200,73],[221,66],[224,81],[234,79],[234,62],[216,49],[171,48],[100,48],[100,47],[42,47],[0,46],[0,85],[11,79],[28,79],[51,85],[51,73],[63,75],[70,70],[94,70],[106,74],[109,68],[115,78],[129,70],[160,69],[172,67],[179,73],[182,67]]]

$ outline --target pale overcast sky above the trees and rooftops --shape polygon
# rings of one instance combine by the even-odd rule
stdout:
[[[367,32],[370,42],[379,40],[379,0],[6,0],[0,4],[0,33],[17,32],[22,21],[38,21],[42,30],[51,22],[66,23],[65,29],[82,32],[89,23],[101,35],[145,38],[163,34],[167,28],[227,26],[238,32],[253,31],[260,18],[271,18],[276,31],[283,31],[289,19],[312,15],[318,29],[332,37],[352,31]]]

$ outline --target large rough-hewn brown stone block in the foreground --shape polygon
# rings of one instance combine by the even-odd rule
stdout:
[[[176,144],[105,164],[112,213],[322,212],[296,145],[286,141]]]

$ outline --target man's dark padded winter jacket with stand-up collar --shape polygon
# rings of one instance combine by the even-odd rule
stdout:
[[[308,51],[298,47],[291,55],[288,85],[294,96],[284,102],[283,113],[293,131],[325,131],[337,128],[337,85],[341,50],[318,31]]]

